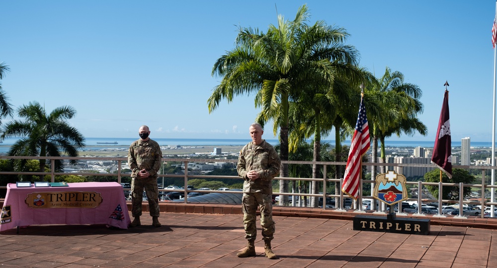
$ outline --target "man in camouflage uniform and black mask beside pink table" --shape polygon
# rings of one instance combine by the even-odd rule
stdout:
[[[152,225],[161,227],[159,222],[159,189],[157,187],[157,174],[162,162],[161,147],[156,141],[149,138],[148,126],[141,126],[138,134],[140,139],[129,147],[128,164],[131,170],[131,214],[134,217],[131,227],[139,226],[142,215],[143,191],[149,201]]]

